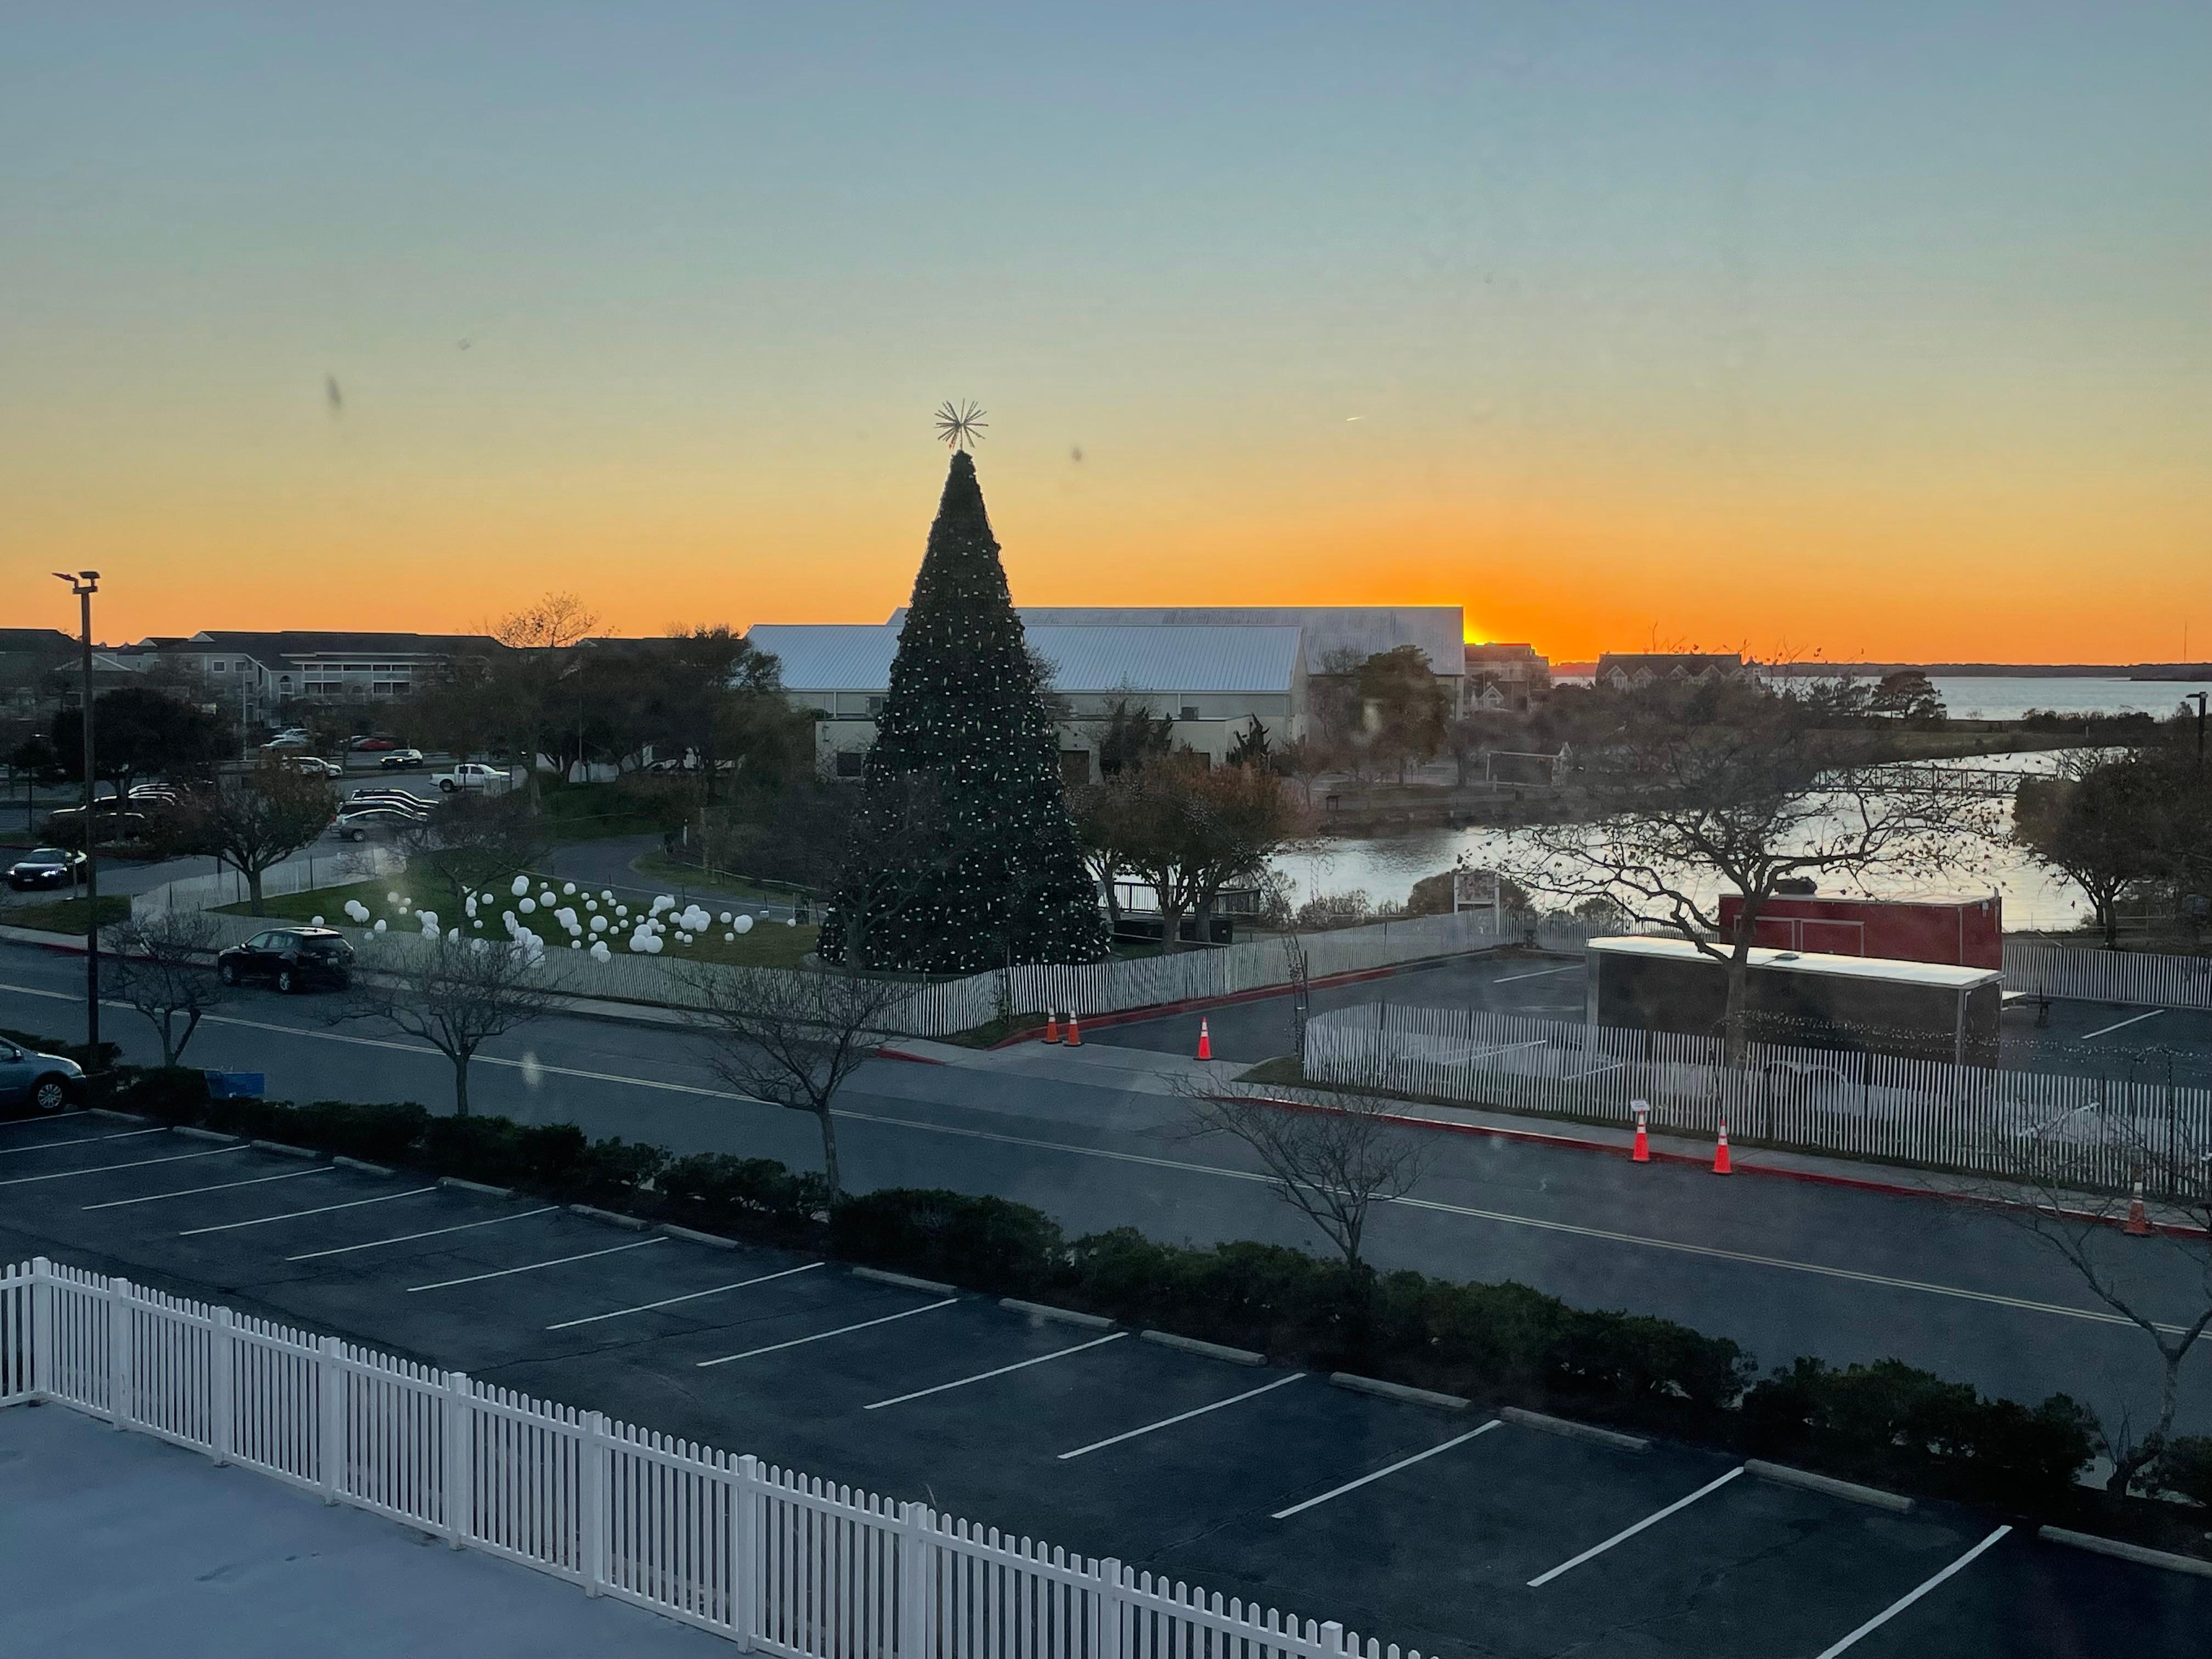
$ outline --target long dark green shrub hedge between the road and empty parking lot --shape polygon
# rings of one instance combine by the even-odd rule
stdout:
[[[1168,1245],[1135,1228],[1071,1241],[1024,1203],[947,1190],[891,1188],[830,1206],[821,1177],[772,1159],[670,1157],[591,1141],[573,1124],[438,1117],[414,1104],[217,1102],[199,1073],[128,1066],[117,1068],[115,1102],[166,1121],[832,1250],[1294,1365],[1657,1427],[2008,1511],[2064,1511],[2097,1436],[2090,1411],[2068,1396],[2037,1407],[1989,1400],[1898,1360],[1832,1369],[1801,1358],[1756,1380],[1752,1356],[1728,1338],[1568,1307],[1528,1285],[1354,1274],[1283,1245]],[[2212,1502],[2212,1440],[2177,1440],[2161,1478]]]

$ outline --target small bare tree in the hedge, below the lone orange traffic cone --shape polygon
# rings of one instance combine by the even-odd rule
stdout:
[[[1338,1088],[1327,1104],[1283,1102],[1250,1084],[1186,1073],[1175,1091],[1197,1137],[1234,1135],[1252,1148],[1279,1199],[1321,1228],[1345,1270],[1367,1276],[1367,1210],[1420,1183],[1420,1137],[1391,1119],[1396,1106],[1369,1088]]]

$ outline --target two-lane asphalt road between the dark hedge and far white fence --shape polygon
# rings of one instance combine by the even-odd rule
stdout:
[[[75,1037],[82,967],[0,945],[0,1026]],[[250,991],[190,1060],[263,1071],[290,1099],[451,1099],[445,1060],[400,1035],[330,1026],[327,998]],[[150,1026],[111,1011],[131,1060]],[[1192,1144],[1141,1053],[1037,1044],[964,1066],[878,1062],[843,1095],[847,1183],[945,1186],[1033,1203],[1071,1234],[1312,1245],[1234,1144]],[[491,1046],[471,1097],[522,1121],[575,1121],[677,1150],[818,1166],[812,1119],[728,1093],[703,1037],[560,1018]],[[4,1199],[0,1199],[4,1219]],[[2157,1318],[2197,1312],[2199,1276],[2166,1241],[2108,1241]],[[2002,1217],[1922,1197],[1630,1166],[1562,1148],[1438,1135],[1409,1201],[1369,1225],[1383,1267],[1515,1279],[1577,1305],[1628,1307],[1732,1336],[1763,1365],[1893,1356],[1991,1394],[2068,1391],[2106,1413],[2154,1398],[2148,1338],[2099,1310],[2046,1245]],[[2212,1363],[2192,1360],[2183,1420],[2212,1429]]]

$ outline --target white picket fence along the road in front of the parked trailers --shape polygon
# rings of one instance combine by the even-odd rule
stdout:
[[[2015,1175],[2035,1141],[2037,1166],[2053,1168],[2062,1148],[2068,1186],[2110,1192],[2128,1188],[2148,1148],[2163,1199],[2212,1179],[2212,1088],[2130,1077],[1783,1044],[1750,1044],[1745,1064],[1728,1066],[1714,1037],[1389,1004],[1307,1022],[1305,1075],[1624,1128],[1641,1099],[1652,1128],[1710,1139],[1725,1119],[1736,1141],[1958,1175]],[[2179,1181],[2197,1186],[2183,1194]]]

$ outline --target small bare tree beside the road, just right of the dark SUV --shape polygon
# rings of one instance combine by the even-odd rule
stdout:
[[[385,1020],[453,1064],[453,1115],[469,1115],[469,1062],[509,1031],[549,1015],[560,969],[542,951],[507,940],[380,940],[354,962],[341,1020]]]

